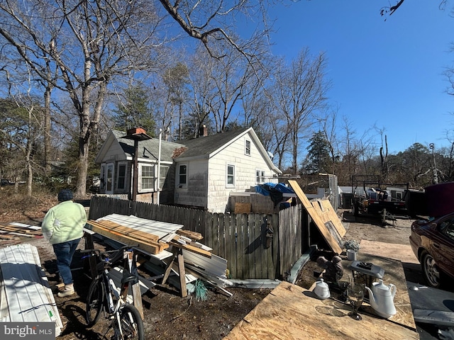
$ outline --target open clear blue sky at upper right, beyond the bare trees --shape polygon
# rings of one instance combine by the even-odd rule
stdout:
[[[404,1],[386,21],[380,8],[387,0],[287,2],[270,12],[277,30],[272,51],[288,62],[305,46],[326,52],[330,101],[358,137],[376,125],[384,128],[390,153],[415,142],[448,146],[454,96],[445,93],[442,73],[454,67],[454,18],[439,2]]]

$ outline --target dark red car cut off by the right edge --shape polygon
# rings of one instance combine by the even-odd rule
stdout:
[[[428,285],[440,288],[454,278],[454,212],[411,225],[410,245]]]

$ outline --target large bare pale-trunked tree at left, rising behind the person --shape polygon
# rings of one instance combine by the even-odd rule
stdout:
[[[89,143],[108,86],[130,72],[153,69],[153,51],[162,42],[155,40],[158,23],[159,16],[143,0],[0,4],[0,35],[40,79],[67,93],[79,116],[77,196],[85,194]],[[59,79],[49,79],[47,61],[58,69]]]

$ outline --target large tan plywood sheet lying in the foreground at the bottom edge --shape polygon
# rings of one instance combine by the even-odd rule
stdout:
[[[348,317],[350,305],[319,300],[298,285],[282,282],[223,339],[419,339],[416,331],[362,314]]]

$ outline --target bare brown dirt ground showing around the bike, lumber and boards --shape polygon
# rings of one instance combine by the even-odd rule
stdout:
[[[28,213],[28,217],[33,217],[31,215],[33,214]],[[42,217],[42,214],[38,215]],[[18,215],[12,216],[11,219],[11,216],[0,215],[0,223],[32,221],[33,223],[30,224],[35,224],[40,219],[39,216],[26,219]],[[348,210],[343,212],[342,218],[345,226],[348,227],[344,240],[354,239],[360,242],[366,239],[392,244],[408,244],[412,220],[399,219],[383,226],[379,219],[355,218]],[[27,242],[37,246],[50,286],[55,289],[58,278],[52,247],[40,238],[18,239],[0,243],[0,246],[14,242]],[[82,242],[81,246],[83,246]],[[106,327],[106,322],[99,322],[94,328],[89,329],[84,321],[85,300],[90,280],[82,269],[83,261],[80,257],[77,252],[73,261],[76,294],[66,298],[55,295],[62,322],[65,324],[62,335],[58,339],[104,339],[101,334],[102,329]],[[415,265],[414,275],[416,276],[420,275],[417,267]],[[296,284],[310,288],[316,280],[314,271],[317,270],[322,271],[314,261],[309,261],[300,272]],[[143,275],[150,276],[150,273],[143,273]],[[145,339],[222,339],[270,293],[270,289],[227,288],[227,290],[233,294],[232,297],[223,295],[219,291],[209,290],[208,300],[197,301],[193,295],[180,297],[179,292],[170,285],[157,284],[143,295]]]

